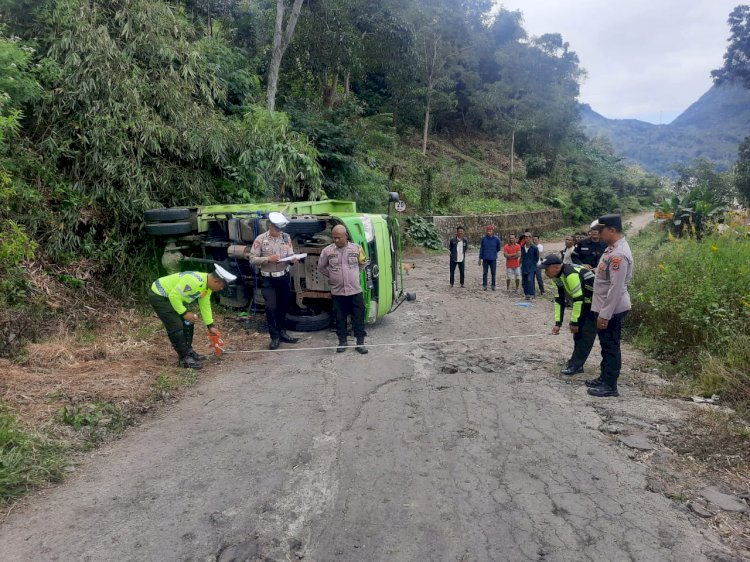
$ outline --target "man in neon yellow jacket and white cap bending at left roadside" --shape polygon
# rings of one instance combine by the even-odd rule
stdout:
[[[197,300],[206,328],[209,333],[216,335],[219,332],[214,327],[211,293],[222,291],[227,283],[237,279],[223,267],[215,267],[216,271],[213,273],[183,271],[160,277],[151,284],[148,292],[148,302],[167,330],[169,341],[179,357],[180,367],[186,369],[202,369],[201,361],[206,358],[193,349],[194,324],[200,317],[190,312],[185,305]]]

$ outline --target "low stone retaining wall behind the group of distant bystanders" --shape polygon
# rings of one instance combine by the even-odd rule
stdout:
[[[557,230],[562,228],[562,212],[559,209],[547,209],[545,211],[528,211],[523,213],[505,213],[498,215],[455,215],[448,217],[428,217],[440,232],[443,242],[447,245],[448,240],[456,233],[457,226],[463,226],[466,237],[470,244],[477,244],[484,235],[484,227],[488,224],[494,225],[495,234],[506,241],[508,234],[518,234],[525,230],[533,233]]]

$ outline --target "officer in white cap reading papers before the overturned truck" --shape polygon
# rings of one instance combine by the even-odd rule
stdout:
[[[268,230],[258,236],[250,251],[250,263],[260,269],[261,293],[266,301],[266,322],[271,343],[268,349],[278,349],[279,342],[297,343],[285,329],[286,313],[291,305],[292,292],[289,287],[291,264],[297,260],[281,261],[294,255],[292,238],[282,232],[289,224],[281,213],[269,213]]]

